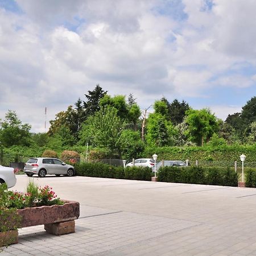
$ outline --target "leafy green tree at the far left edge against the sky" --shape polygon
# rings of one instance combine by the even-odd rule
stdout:
[[[31,144],[31,125],[22,123],[15,111],[9,110],[5,120],[0,122],[0,141],[3,146],[29,146]]]

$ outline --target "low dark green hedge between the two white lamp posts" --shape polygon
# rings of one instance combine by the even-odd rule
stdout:
[[[158,180],[163,182],[222,185],[237,187],[238,174],[231,168],[161,167]]]

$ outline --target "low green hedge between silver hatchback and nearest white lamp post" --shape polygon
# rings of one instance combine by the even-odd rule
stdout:
[[[110,166],[104,163],[79,163],[75,165],[76,175],[89,177],[106,177],[127,180],[151,180],[151,168],[126,168]]]

